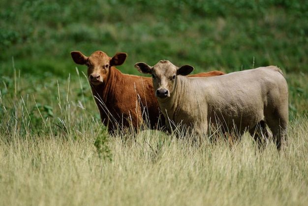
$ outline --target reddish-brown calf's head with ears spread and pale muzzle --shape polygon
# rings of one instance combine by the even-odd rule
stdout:
[[[80,51],[72,51],[71,56],[78,65],[87,65],[89,82],[93,85],[99,85],[106,82],[110,67],[122,65],[127,57],[126,53],[117,53],[114,57],[102,51],[96,51],[90,57],[83,55]]]

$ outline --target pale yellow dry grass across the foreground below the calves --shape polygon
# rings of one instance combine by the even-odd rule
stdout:
[[[250,136],[194,146],[143,131],[109,139],[112,161],[94,137],[0,140],[1,205],[306,205],[308,120],[291,122],[289,146],[259,151]]]

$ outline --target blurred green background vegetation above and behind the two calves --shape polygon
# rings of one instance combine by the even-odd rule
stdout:
[[[75,73],[70,51],[168,59],[195,72],[277,65],[307,73],[307,0],[1,0],[0,76]],[[78,66],[85,71],[85,67]]]

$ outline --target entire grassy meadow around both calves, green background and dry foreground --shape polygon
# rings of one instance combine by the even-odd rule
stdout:
[[[307,205],[307,18],[301,0],[2,0],[0,205]],[[136,75],[161,59],[195,72],[277,65],[288,145],[110,137],[73,50],[126,52],[118,69]]]

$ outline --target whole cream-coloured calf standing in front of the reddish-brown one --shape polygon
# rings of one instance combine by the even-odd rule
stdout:
[[[155,96],[169,129],[184,124],[206,135],[209,125],[214,125],[223,132],[248,130],[256,139],[267,139],[267,124],[280,149],[288,125],[288,86],[277,67],[190,78],[186,75],[193,67],[178,68],[166,60],[153,67],[136,63],[135,68],[152,74]]]

